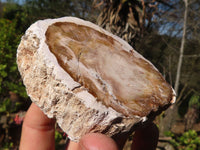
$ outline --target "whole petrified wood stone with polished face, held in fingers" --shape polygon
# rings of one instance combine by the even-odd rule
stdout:
[[[129,132],[175,101],[158,70],[127,42],[74,17],[31,25],[17,64],[31,100],[73,141]]]

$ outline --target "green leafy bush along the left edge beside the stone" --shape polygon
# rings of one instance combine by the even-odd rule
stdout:
[[[2,112],[7,111],[9,92],[24,98],[27,94],[16,64],[16,50],[21,37],[16,29],[16,21],[1,18],[0,27],[0,106]]]

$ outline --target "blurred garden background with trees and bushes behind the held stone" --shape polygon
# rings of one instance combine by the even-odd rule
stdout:
[[[157,149],[200,150],[199,0],[0,0],[0,149],[18,148],[31,104],[16,65],[20,38],[33,22],[63,16],[100,25],[150,60],[177,93],[155,119]],[[63,149],[66,135],[56,128]]]

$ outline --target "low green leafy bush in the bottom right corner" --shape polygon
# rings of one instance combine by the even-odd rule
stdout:
[[[189,130],[180,136],[175,136],[169,131],[166,135],[172,137],[170,143],[177,150],[200,150],[200,137],[195,130]]]

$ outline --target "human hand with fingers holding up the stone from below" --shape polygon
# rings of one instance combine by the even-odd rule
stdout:
[[[49,119],[35,104],[31,104],[24,119],[20,150],[54,150],[55,120]],[[90,133],[79,143],[69,141],[66,150],[118,150],[127,137],[116,142],[100,133]],[[154,150],[158,141],[158,129],[154,124],[136,131],[132,150]]]

